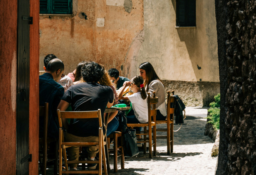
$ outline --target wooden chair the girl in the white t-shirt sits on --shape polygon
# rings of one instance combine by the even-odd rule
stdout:
[[[127,126],[131,127],[132,129],[134,127],[144,127],[144,131],[136,132],[136,135],[143,135],[143,139],[138,139],[142,141],[137,141],[137,143],[144,143],[143,154],[146,154],[146,143],[148,143],[149,158],[152,158],[152,145],[153,145],[153,156],[156,156],[157,154],[156,124],[153,121],[155,120],[157,115],[156,104],[158,102],[158,97],[151,98],[150,93],[148,93],[147,101],[148,101],[148,123],[127,123]],[[151,105],[152,105],[152,108],[151,108]],[[153,121],[151,120],[151,116],[153,116]],[[148,127],[148,130],[147,130],[147,127]],[[153,127],[153,130],[152,130],[152,127]],[[152,143],[152,131],[153,131],[153,143]]]

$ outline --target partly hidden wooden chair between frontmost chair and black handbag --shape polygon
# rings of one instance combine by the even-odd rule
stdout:
[[[108,151],[114,154],[114,173],[117,173],[117,158],[121,156],[121,169],[125,168],[125,154],[123,150],[123,134],[122,132],[115,131],[111,133],[108,137]],[[110,139],[113,139],[113,149],[109,149]],[[118,139],[120,139],[121,145],[118,146]],[[118,151],[121,153],[118,154]]]

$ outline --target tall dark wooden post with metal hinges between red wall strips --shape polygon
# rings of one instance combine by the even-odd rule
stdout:
[[[18,0],[16,174],[29,174],[30,0]]]

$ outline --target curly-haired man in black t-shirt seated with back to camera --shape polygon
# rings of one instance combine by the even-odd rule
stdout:
[[[58,109],[65,111],[71,103],[72,111],[93,111],[101,110],[102,121],[104,121],[104,111],[110,108],[114,102],[114,94],[110,86],[99,83],[104,74],[104,67],[95,62],[88,62],[82,68],[82,76],[85,82],[74,84],[63,95]],[[99,141],[99,120],[94,119],[74,119],[68,124],[67,120],[62,120],[63,126],[68,129],[64,133],[66,141]],[[104,125],[105,126],[105,125]],[[104,134],[106,129],[103,128]],[[89,160],[94,160],[99,148],[91,146],[87,148]],[[67,148],[68,159],[78,160],[79,147]],[[88,169],[96,169],[97,164],[88,164]],[[70,169],[76,170],[77,164],[71,164]]]

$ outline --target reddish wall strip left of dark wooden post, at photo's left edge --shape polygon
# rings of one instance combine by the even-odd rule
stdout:
[[[16,174],[17,0],[0,3],[0,169]]]

